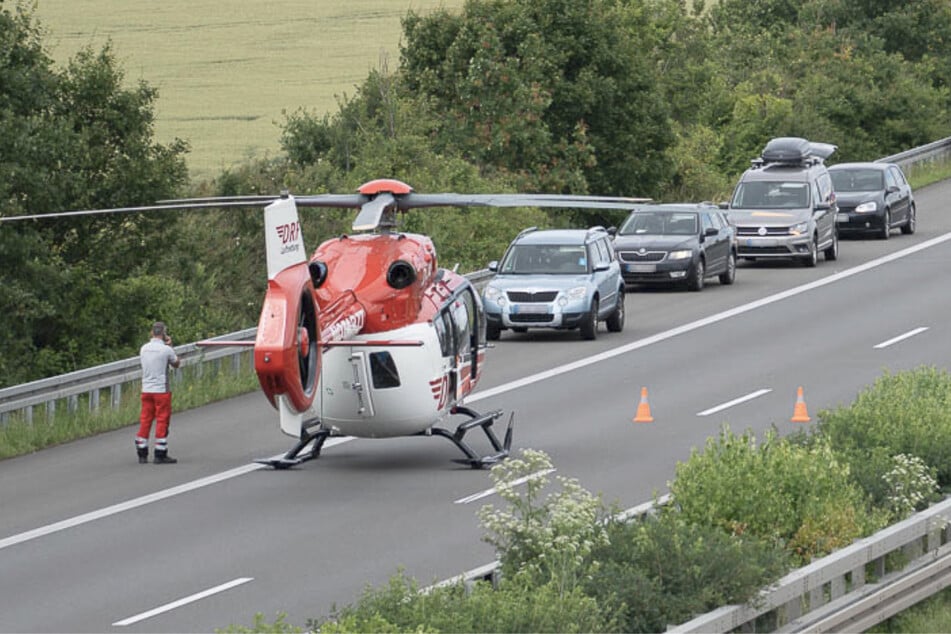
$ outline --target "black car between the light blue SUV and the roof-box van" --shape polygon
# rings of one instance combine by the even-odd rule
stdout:
[[[736,229],[715,205],[670,203],[635,208],[614,236],[626,284],[678,283],[703,289],[707,277],[736,278]]]

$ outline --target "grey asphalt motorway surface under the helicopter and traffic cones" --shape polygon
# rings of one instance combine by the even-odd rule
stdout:
[[[503,332],[469,405],[514,411],[516,451],[628,508],[723,424],[800,429],[800,386],[815,420],[883,371],[948,368],[951,183],[917,200],[915,235],[843,240],[814,269],[744,262],[733,286],[630,292],[622,333]],[[652,423],[632,421],[642,387]],[[291,439],[261,394],[176,415],[178,465],[137,464],[134,434],[0,462],[0,631],[303,626],[400,569],[426,585],[494,559],[476,512],[500,499],[444,439],[328,443],[272,471],[253,459]]]

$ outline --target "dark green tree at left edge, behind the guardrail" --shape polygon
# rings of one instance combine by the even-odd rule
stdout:
[[[144,83],[124,88],[108,46],[56,69],[42,35],[23,4],[0,7],[0,214],[173,196],[187,178],[186,146],[152,142],[155,91]],[[141,214],[5,223],[0,384],[132,354],[148,322],[166,307],[153,313],[117,304],[114,285],[150,274],[157,255],[172,246],[166,226]],[[174,280],[174,272],[165,273]],[[113,328],[117,310],[131,328]],[[118,336],[132,331],[134,338]]]

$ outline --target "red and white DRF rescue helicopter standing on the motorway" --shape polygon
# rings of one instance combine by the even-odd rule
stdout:
[[[278,410],[281,431],[297,439],[281,458],[288,468],[317,458],[328,438],[442,436],[482,468],[511,448],[514,414],[504,440],[492,429],[501,410],[464,405],[485,364],[485,316],[467,278],[437,265],[432,240],[397,230],[397,214],[420,207],[564,207],[630,209],[643,198],[557,194],[420,194],[398,180],[378,179],[355,194],[232,196],[0,220],[265,206],[268,288],[253,345],[261,388]],[[298,207],[359,209],[353,234],[323,242],[310,257]],[[465,420],[454,431],[441,425]],[[480,455],[465,440],[479,427],[491,444]]]

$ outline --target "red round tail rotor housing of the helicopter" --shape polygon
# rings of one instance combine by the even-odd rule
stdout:
[[[306,412],[314,402],[321,354],[317,318],[306,264],[286,268],[268,281],[254,343],[254,369],[276,408],[279,396],[297,413]]]

